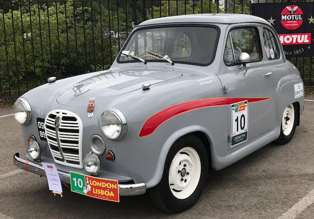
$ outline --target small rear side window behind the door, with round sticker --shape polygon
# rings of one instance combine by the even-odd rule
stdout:
[[[263,29],[263,41],[268,60],[279,59],[280,52],[274,34],[268,30]]]

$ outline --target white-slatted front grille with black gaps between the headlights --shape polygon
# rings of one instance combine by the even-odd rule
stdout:
[[[82,122],[77,114],[67,110],[51,111],[45,119],[45,131],[56,163],[83,168]]]

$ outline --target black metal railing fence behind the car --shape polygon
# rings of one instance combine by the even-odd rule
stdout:
[[[251,3],[250,0],[1,1],[0,98],[18,97],[46,83],[53,75],[60,79],[109,68],[134,25],[147,19],[197,13],[250,14]],[[290,61],[299,68],[305,84],[311,85],[313,57]]]

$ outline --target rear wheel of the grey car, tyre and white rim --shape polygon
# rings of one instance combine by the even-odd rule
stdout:
[[[283,145],[292,139],[296,128],[298,113],[298,106],[295,103],[286,107],[282,117],[280,135],[277,140],[275,140],[275,143]]]

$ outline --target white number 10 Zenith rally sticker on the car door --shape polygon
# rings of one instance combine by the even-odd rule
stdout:
[[[232,113],[232,141],[231,147],[247,141],[248,124],[248,103],[247,100],[231,105]]]

